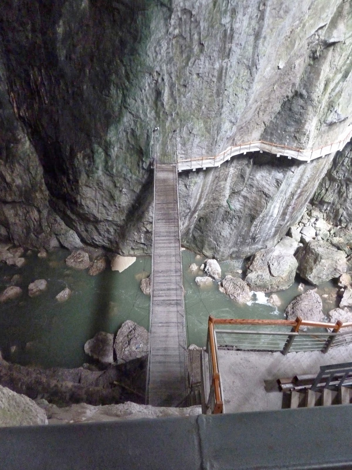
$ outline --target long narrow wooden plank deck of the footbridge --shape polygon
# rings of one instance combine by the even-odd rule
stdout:
[[[176,165],[154,176],[152,297],[147,403],[176,406],[188,393]]]

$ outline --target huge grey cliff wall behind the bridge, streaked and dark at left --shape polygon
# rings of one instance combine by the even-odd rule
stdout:
[[[344,0],[5,0],[0,235],[148,251],[153,127],[163,161],[338,140],[351,121],[351,31]],[[273,245],[332,157],[251,154],[182,174],[184,244],[219,258]]]

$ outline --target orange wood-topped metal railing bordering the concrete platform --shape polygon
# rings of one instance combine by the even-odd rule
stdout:
[[[245,327],[245,328],[244,328]],[[274,328],[273,328],[274,327]],[[352,322],[224,319],[209,316],[206,352],[208,354],[208,388],[206,411],[223,413],[223,391],[219,370],[218,348],[242,351],[321,351],[352,343]],[[306,329],[306,331],[302,331]],[[307,331],[309,329],[309,331]],[[203,375],[204,378],[204,375]],[[205,380],[205,378],[204,378]],[[205,384],[204,390],[206,390]]]

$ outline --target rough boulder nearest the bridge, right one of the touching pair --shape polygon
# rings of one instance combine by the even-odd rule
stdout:
[[[149,333],[131,320],[126,320],[118,330],[114,349],[117,359],[125,361],[146,356]]]

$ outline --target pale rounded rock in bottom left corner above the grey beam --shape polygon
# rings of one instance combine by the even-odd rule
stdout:
[[[0,427],[47,423],[45,411],[33,400],[0,385]]]

